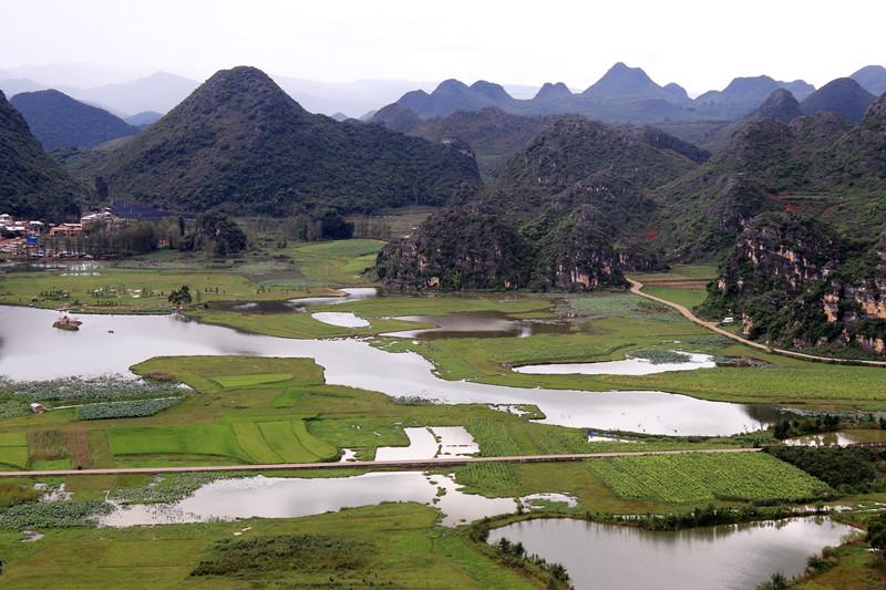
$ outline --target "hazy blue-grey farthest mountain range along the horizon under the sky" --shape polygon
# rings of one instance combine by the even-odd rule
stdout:
[[[691,100],[679,84],[659,85],[643,70],[624,63],[614,65],[584,92],[573,92],[562,82],[546,83],[539,89],[485,82],[466,86],[457,81],[445,81],[434,90],[435,85],[429,82],[360,80],[334,83],[281,75],[272,77],[309,112],[342,113],[352,118],[400,103],[413,110],[420,118],[497,106],[516,114],[581,114],[614,122],[660,123],[666,118],[722,122],[741,118],[779,87],[790,90],[800,101],[815,90],[803,81],[780,82],[762,75],[736,77],[723,90],[709,91]],[[880,65],[863,68],[851,77],[874,95],[886,90],[886,69]],[[87,83],[100,80],[111,82]],[[145,111],[166,113],[198,85],[195,80],[165,72],[133,77],[128,71],[75,64],[0,71],[0,90],[7,96],[54,89],[122,118]],[[612,105],[614,101],[620,106]],[[379,121],[387,121],[387,115],[382,114]]]

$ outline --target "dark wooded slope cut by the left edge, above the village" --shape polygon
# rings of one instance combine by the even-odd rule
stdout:
[[[62,221],[80,214],[86,189],[47,156],[24,117],[0,92],[0,213]]]

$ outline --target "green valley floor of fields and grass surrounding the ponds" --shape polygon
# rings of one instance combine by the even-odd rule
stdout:
[[[292,339],[367,338],[391,354],[420,354],[433,363],[440,377],[451,382],[528,390],[663,391],[718,402],[787,405],[804,412],[839,411],[856,428],[870,433],[876,432],[878,413],[886,411],[886,379],[880,368],[815,363],[748,348],[637,293],[385,296],[320,304],[301,313],[217,304],[338,294],[336,288],[367,284],[361,271],[379,247],[380,242],[371,240],[296,245],[282,249],[279,258],[245,260],[230,268],[208,268],[202,261],[164,259],[167,255],[158,253],[138,262],[147,268],[127,261],[73,273],[70,269],[12,271],[0,279],[0,303],[53,308],[62,301],[80,300],[89,301],[84,311],[154,312],[168,309],[164,297],[168,289],[189,283],[199,293],[199,301],[187,311],[192,319]],[[649,281],[643,292],[690,307],[698,301],[707,271],[679,269],[670,281]],[[102,297],[90,294],[96,291]],[[113,304],[105,306],[105,301]],[[351,313],[369,325],[324,323],[313,318],[315,312]],[[402,319],[405,317],[412,319]],[[465,333],[439,337],[385,335],[433,328],[439,317],[492,319],[507,335],[470,328]],[[524,338],[516,338],[518,333]],[[78,334],[71,335],[75,339]],[[668,359],[674,351],[709,355],[717,365],[646,375],[513,371],[533,364],[595,363],[635,355]],[[538,422],[545,415],[530,404],[504,408],[481,403],[440,404],[329,384],[323,368],[311,359],[237,353],[161,356],[144,360],[132,370],[158,383],[182,382],[190,389],[172,394],[163,389],[133,398],[113,387],[99,387],[72,398],[41,397],[49,411],[31,414],[17,397],[17,386],[0,383],[0,464],[4,470],[21,474],[0,479],[0,509],[7,509],[0,516],[0,580],[17,588],[50,583],[104,588],[557,587],[562,581],[553,578],[550,570],[512,559],[482,542],[476,525],[444,526],[441,506],[445,503],[439,500],[353,507],[300,518],[93,528],[89,526],[90,510],[107,497],[169,504],[216,477],[236,478],[238,474],[200,478],[190,474],[50,472],[320,463],[346,455],[371,460],[379,448],[410,445],[405,428],[445,426],[463,427],[477,445],[478,455],[491,458],[776,444],[771,429],[733,436],[619,432],[589,439],[587,428]],[[47,382],[42,387],[52,391],[59,384]],[[152,405],[171,396],[169,404]],[[78,407],[90,404],[101,405],[103,420],[86,420]],[[369,467],[342,463],[341,469],[322,473],[261,475],[349,478],[368,473]],[[494,460],[424,469],[425,477],[451,477],[457,493],[478,498],[518,499],[552,493],[570,498],[542,499],[535,508],[521,508],[519,515],[493,516],[493,525],[528,516],[602,521],[615,515],[686,516],[708,506],[736,510],[744,515],[742,519],[765,519],[817,504],[847,506],[848,510],[834,513],[834,518],[863,526],[879,510],[875,503],[886,499],[877,491],[882,483],[872,484],[866,494],[849,495],[766,453],[610,456],[569,463]],[[28,470],[41,470],[41,475]],[[41,511],[40,503],[33,503],[34,482],[70,494],[69,499],[56,500],[70,513],[64,511],[69,508],[60,508],[58,514]],[[447,489],[442,486],[436,493],[455,494]],[[29,530],[43,536],[31,541]],[[238,555],[249,556],[250,561]],[[270,559],[270,555],[285,558]],[[828,568],[810,572],[799,587],[877,588],[886,582],[886,573],[872,566],[857,542],[842,546],[828,559]],[[854,586],[844,586],[849,583]]]

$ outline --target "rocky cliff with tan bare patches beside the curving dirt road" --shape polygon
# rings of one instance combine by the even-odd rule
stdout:
[[[886,232],[858,244],[813,219],[762,215],[708,291],[703,310],[740,317],[750,338],[886,354]]]

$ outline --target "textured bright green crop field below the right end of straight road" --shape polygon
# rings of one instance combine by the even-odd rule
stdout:
[[[828,486],[761,453],[590,459],[591,472],[622,498],[689,503],[821,496]]]

